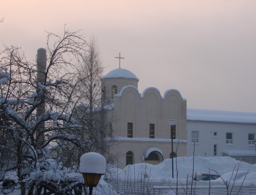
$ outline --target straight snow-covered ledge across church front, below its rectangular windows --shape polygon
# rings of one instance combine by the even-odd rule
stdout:
[[[127,137],[105,138],[104,141],[172,142],[171,139],[166,139],[166,138],[127,138]],[[173,142],[187,143],[188,141],[181,140],[181,139],[173,139]]]

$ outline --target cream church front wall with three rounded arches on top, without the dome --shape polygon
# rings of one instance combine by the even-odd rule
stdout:
[[[110,147],[110,153],[116,156],[118,162],[115,163],[121,168],[126,166],[128,151],[133,153],[135,163],[144,162],[143,156],[145,157],[146,151],[151,147],[160,149],[164,159],[170,158],[169,119],[176,120],[173,152],[177,156],[186,156],[186,100],[178,91],[167,91],[161,97],[157,89],[148,88],[140,95],[136,87],[129,85],[114,97],[114,110],[111,113],[114,113],[115,119],[112,122],[112,137],[121,138],[121,141],[113,141],[114,146]],[[128,122],[133,123],[133,138],[127,138]],[[149,138],[149,124],[155,124],[155,138],[143,140]],[[178,139],[181,140],[179,146]]]

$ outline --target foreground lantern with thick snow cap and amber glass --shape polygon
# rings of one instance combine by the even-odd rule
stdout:
[[[80,173],[83,175],[84,184],[89,187],[89,195],[92,195],[92,189],[98,185],[105,169],[106,159],[101,154],[89,152],[80,157]]]

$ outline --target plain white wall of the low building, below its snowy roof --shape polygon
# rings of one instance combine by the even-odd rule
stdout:
[[[237,157],[229,155],[238,160],[249,162],[254,164],[255,158],[246,159],[243,156],[248,155],[248,151],[254,155],[255,145],[248,144],[248,134],[256,135],[255,123],[239,123],[239,122],[214,122],[214,121],[194,121],[187,120],[188,131],[188,145],[187,156],[193,156],[193,150],[195,147],[195,156],[209,157],[214,156],[214,144],[217,145],[217,156],[223,156],[223,150],[236,151],[244,150],[243,154],[237,154]],[[198,143],[192,143],[192,131],[198,131]],[[214,132],[217,132],[217,136],[214,136]],[[233,133],[233,144],[226,144],[226,133]],[[243,153],[243,152],[242,152]],[[225,156],[225,155],[224,155]],[[252,162],[250,162],[252,161]],[[256,161],[255,161],[256,163]]]

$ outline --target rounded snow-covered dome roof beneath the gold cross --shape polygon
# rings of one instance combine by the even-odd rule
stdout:
[[[123,69],[123,68],[117,68],[115,70],[111,70],[108,74],[101,77],[102,79],[107,78],[125,78],[125,79],[136,79],[139,81],[139,79],[129,70]]]

